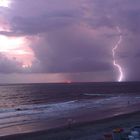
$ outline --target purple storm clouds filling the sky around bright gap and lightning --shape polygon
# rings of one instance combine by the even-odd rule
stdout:
[[[89,75],[93,81],[116,80],[112,48],[119,39],[119,26],[123,41],[116,59],[124,80],[140,79],[139,0],[11,0],[11,7],[0,8],[0,13],[9,25],[1,35],[30,40],[35,55],[30,73],[67,73],[73,81],[90,79]],[[24,72],[14,70],[14,65],[18,66],[10,62],[8,72]]]

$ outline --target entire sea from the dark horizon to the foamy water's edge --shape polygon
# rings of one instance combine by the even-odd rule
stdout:
[[[139,82],[3,84],[0,136],[59,127],[71,118],[88,118],[87,112],[95,120],[106,110],[115,116],[139,103]]]

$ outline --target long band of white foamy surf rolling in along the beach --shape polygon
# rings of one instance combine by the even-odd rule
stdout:
[[[34,123],[39,120],[59,119],[69,117],[74,111],[92,108],[93,111],[101,111],[105,108],[121,107],[130,103],[140,102],[139,98],[109,97],[98,100],[72,100],[67,102],[23,105],[16,108],[0,109],[0,128],[16,126],[20,124]]]

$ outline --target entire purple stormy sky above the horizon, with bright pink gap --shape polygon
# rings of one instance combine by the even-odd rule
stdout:
[[[139,81],[139,23],[139,0],[0,0],[0,83]]]

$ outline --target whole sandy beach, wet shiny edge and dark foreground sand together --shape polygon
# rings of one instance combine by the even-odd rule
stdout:
[[[140,104],[122,108],[113,108],[93,113],[92,110],[73,112],[71,118],[59,120],[39,121],[34,124],[13,126],[13,131],[19,134],[0,137],[0,140],[99,140],[106,132],[113,128],[131,128],[140,125]],[[26,129],[31,129],[27,131]],[[36,128],[36,129],[35,129]],[[42,130],[37,128],[42,128]],[[34,129],[34,131],[32,131]],[[9,131],[11,128],[9,129]],[[0,130],[1,133],[8,128]],[[22,134],[22,131],[24,132]],[[13,133],[14,134],[14,133]]]

